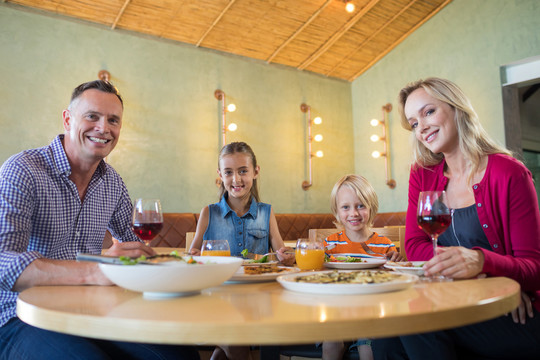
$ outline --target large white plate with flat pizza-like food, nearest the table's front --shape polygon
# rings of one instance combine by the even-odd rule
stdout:
[[[327,270],[278,276],[287,290],[326,295],[374,294],[407,289],[418,276],[384,270]]]

